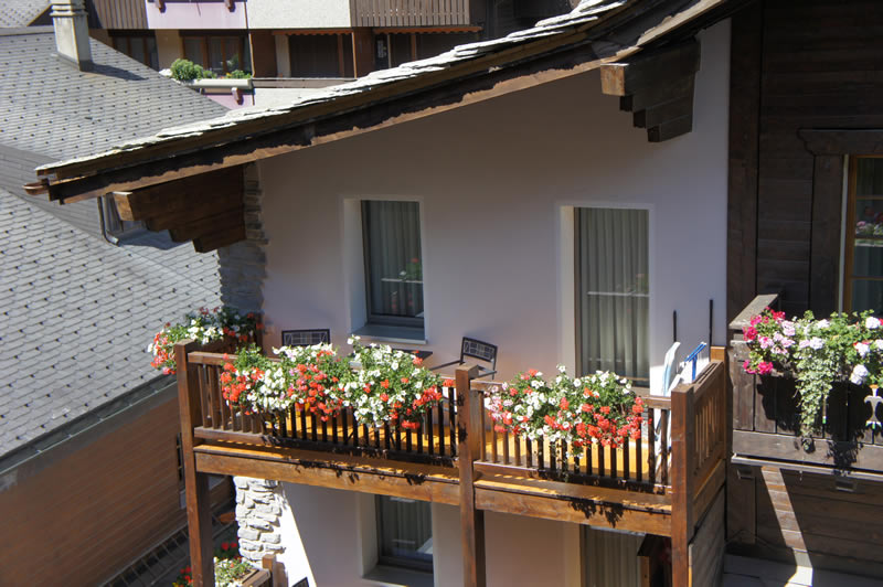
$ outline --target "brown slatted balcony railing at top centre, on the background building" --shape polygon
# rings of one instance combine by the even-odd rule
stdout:
[[[354,25],[372,28],[468,26],[475,0],[353,0]]]

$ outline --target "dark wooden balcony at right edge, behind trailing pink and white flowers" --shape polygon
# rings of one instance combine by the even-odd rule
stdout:
[[[883,430],[866,427],[871,417],[866,387],[836,384],[819,431],[804,438],[794,378],[751,375],[742,369],[748,356],[742,328],[764,308],[776,308],[777,301],[775,295],[758,296],[730,324],[733,462],[829,474],[849,471],[855,478],[883,481]]]

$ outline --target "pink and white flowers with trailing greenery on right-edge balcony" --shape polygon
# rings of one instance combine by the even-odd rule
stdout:
[[[766,308],[743,328],[743,338],[747,373],[794,375],[804,436],[817,430],[834,382],[880,385],[883,380],[883,328],[871,312],[817,320],[808,311],[787,320],[785,312]]]

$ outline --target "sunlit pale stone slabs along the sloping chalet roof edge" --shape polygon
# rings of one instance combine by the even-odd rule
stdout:
[[[118,142],[113,149],[108,149],[104,152],[96,151],[95,154],[74,157],[70,160],[60,161],[57,163],[41,166],[41,168],[51,169],[73,162],[113,159],[115,156],[121,152],[137,151],[163,142],[210,135],[213,131],[235,127],[249,120],[284,116],[299,108],[305,108],[315,104],[330,103],[344,96],[369,93],[395,82],[417,78],[433,72],[447,70],[462,62],[476,60],[491,53],[498,53],[503,50],[512,49],[518,45],[526,44],[544,38],[573,32],[578,26],[598,21],[605,14],[615,9],[618,9],[625,4],[636,4],[638,2],[639,0],[582,0],[582,2],[567,14],[542,20],[532,29],[517,31],[500,39],[459,45],[434,57],[404,63],[390,70],[372,72],[369,75],[360,77],[353,82],[338,86],[330,86],[322,88],[320,92],[300,96],[287,105],[275,105],[268,107],[254,106],[230,110],[226,115],[219,118],[194,121],[192,124],[178,127],[170,127],[153,135],[142,135],[141,138],[136,140]],[[626,49],[625,46],[619,46],[614,39],[608,39],[606,44],[610,55],[616,53],[618,49]]]

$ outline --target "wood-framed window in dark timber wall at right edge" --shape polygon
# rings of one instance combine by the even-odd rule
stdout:
[[[883,158],[850,161],[843,310],[883,309]]]

